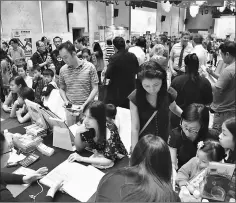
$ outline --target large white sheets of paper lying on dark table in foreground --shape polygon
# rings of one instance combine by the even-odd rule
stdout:
[[[75,199],[86,202],[96,192],[103,175],[103,172],[93,166],[64,161],[40,182],[51,187],[55,182],[64,180],[61,189]]]

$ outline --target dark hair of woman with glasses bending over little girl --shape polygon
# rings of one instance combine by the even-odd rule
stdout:
[[[187,122],[198,121],[200,123],[201,128],[198,131],[196,140],[194,141],[195,144],[207,138],[209,125],[209,110],[205,105],[196,103],[188,105],[183,109],[181,119],[186,120]]]

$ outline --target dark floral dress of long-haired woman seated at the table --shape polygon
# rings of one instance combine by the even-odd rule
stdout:
[[[117,126],[112,121],[107,121],[106,127],[110,131],[110,137],[103,143],[95,143],[91,136],[85,137],[83,134],[81,134],[81,140],[88,143],[90,148],[97,150],[97,152],[102,154],[105,158],[116,161],[117,159],[123,158],[128,153],[120,139]]]

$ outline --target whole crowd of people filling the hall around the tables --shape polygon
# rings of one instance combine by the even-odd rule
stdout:
[[[98,42],[89,47],[84,37],[73,44],[56,36],[53,42],[52,51],[46,37],[37,41],[28,61],[17,39],[8,50],[2,44],[2,108],[27,122],[25,100],[44,105],[57,89],[65,106],[77,106],[76,112],[66,111],[68,126],[81,123],[70,162],[108,168],[129,154],[128,167],[102,178],[96,201],[183,201],[171,184],[173,170],[180,190],[189,192],[188,180],[210,161],[236,163],[235,42],[188,31],[172,45],[164,34],[151,42],[115,37],[105,50]],[[130,110],[130,149],[119,135],[116,107]],[[86,147],[93,157],[80,155]],[[1,163],[7,153],[1,134]],[[35,181],[44,172],[17,180]]]

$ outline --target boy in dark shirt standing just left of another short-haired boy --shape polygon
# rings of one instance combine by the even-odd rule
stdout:
[[[34,74],[34,78],[33,78],[33,85],[32,88],[35,91],[35,99],[34,102],[42,105],[42,92],[43,92],[43,88],[44,88],[44,80],[43,80],[43,76],[41,74],[41,67],[36,66],[33,68],[33,74]]]

